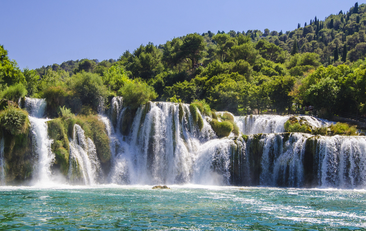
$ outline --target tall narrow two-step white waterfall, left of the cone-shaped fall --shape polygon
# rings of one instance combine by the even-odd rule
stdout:
[[[51,151],[53,140],[48,137],[47,121],[44,119],[46,110],[46,100],[39,98],[28,98],[25,100],[25,107],[29,112],[31,123],[34,153],[38,156],[38,164],[35,166],[36,176],[39,183],[47,184],[51,182],[51,165],[55,160],[55,154]]]

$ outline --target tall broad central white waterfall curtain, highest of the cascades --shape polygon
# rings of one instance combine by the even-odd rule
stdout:
[[[204,120],[194,125],[188,104],[150,102],[137,109],[129,135],[121,134],[124,117],[130,111],[122,99],[114,98],[108,119],[101,115],[111,140],[112,183],[163,184],[190,183],[199,147],[215,138]],[[179,119],[179,110],[181,118]],[[114,125],[111,128],[110,125]]]

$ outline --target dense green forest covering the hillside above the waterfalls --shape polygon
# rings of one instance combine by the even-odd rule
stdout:
[[[237,115],[294,113],[306,106],[366,114],[366,5],[356,3],[293,31],[209,31],[148,43],[117,60],[70,60],[21,70],[0,47],[2,98],[46,98],[48,116],[66,106],[93,113],[100,96],[123,96],[137,108],[149,100],[201,101]],[[87,112],[86,112],[87,111]],[[304,111],[302,111],[304,113]]]

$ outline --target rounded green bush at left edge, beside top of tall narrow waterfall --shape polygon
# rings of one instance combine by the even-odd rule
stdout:
[[[12,135],[24,134],[29,127],[28,112],[9,106],[0,112],[0,125]]]

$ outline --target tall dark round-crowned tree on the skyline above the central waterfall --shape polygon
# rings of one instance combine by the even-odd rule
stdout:
[[[180,47],[181,57],[190,59],[192,69],[197,64],[198,60],[204,56],[206,50],[206,42],[204,37],[199,34],[188,34]]]

